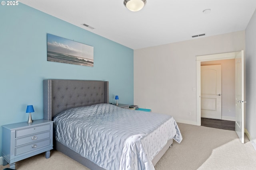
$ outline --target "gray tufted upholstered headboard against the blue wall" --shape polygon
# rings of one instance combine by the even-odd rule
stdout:
[[[44,119],[73,107],[108,103],[108,82],[97,80],[44,80]]]

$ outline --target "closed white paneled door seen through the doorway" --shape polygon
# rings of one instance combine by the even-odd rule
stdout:
[[[201,66],[201,117],[221,117],[221,65]]]

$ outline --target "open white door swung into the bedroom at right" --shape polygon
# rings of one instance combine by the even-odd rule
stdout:
[[[244,51],[236,55],[236,133],[244,143]]]

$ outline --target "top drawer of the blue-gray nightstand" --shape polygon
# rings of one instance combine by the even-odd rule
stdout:
[[[32,135],[34,133],[40,133],[44,131],[50,131],[50,124],[42,125],[42,126],[35,126],[32,128],[22,129],[16,131],[16,137],[22,137],[26,135]]]

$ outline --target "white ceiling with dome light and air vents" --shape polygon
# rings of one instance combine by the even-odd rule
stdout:
[[[19,0],[19,2],[131,49],[246,29],[256,0],[147,0],[138,12],[123,0]],[[202,11],[211,9],[209,14]],[[81,25],[86,23],[90,29]]]

